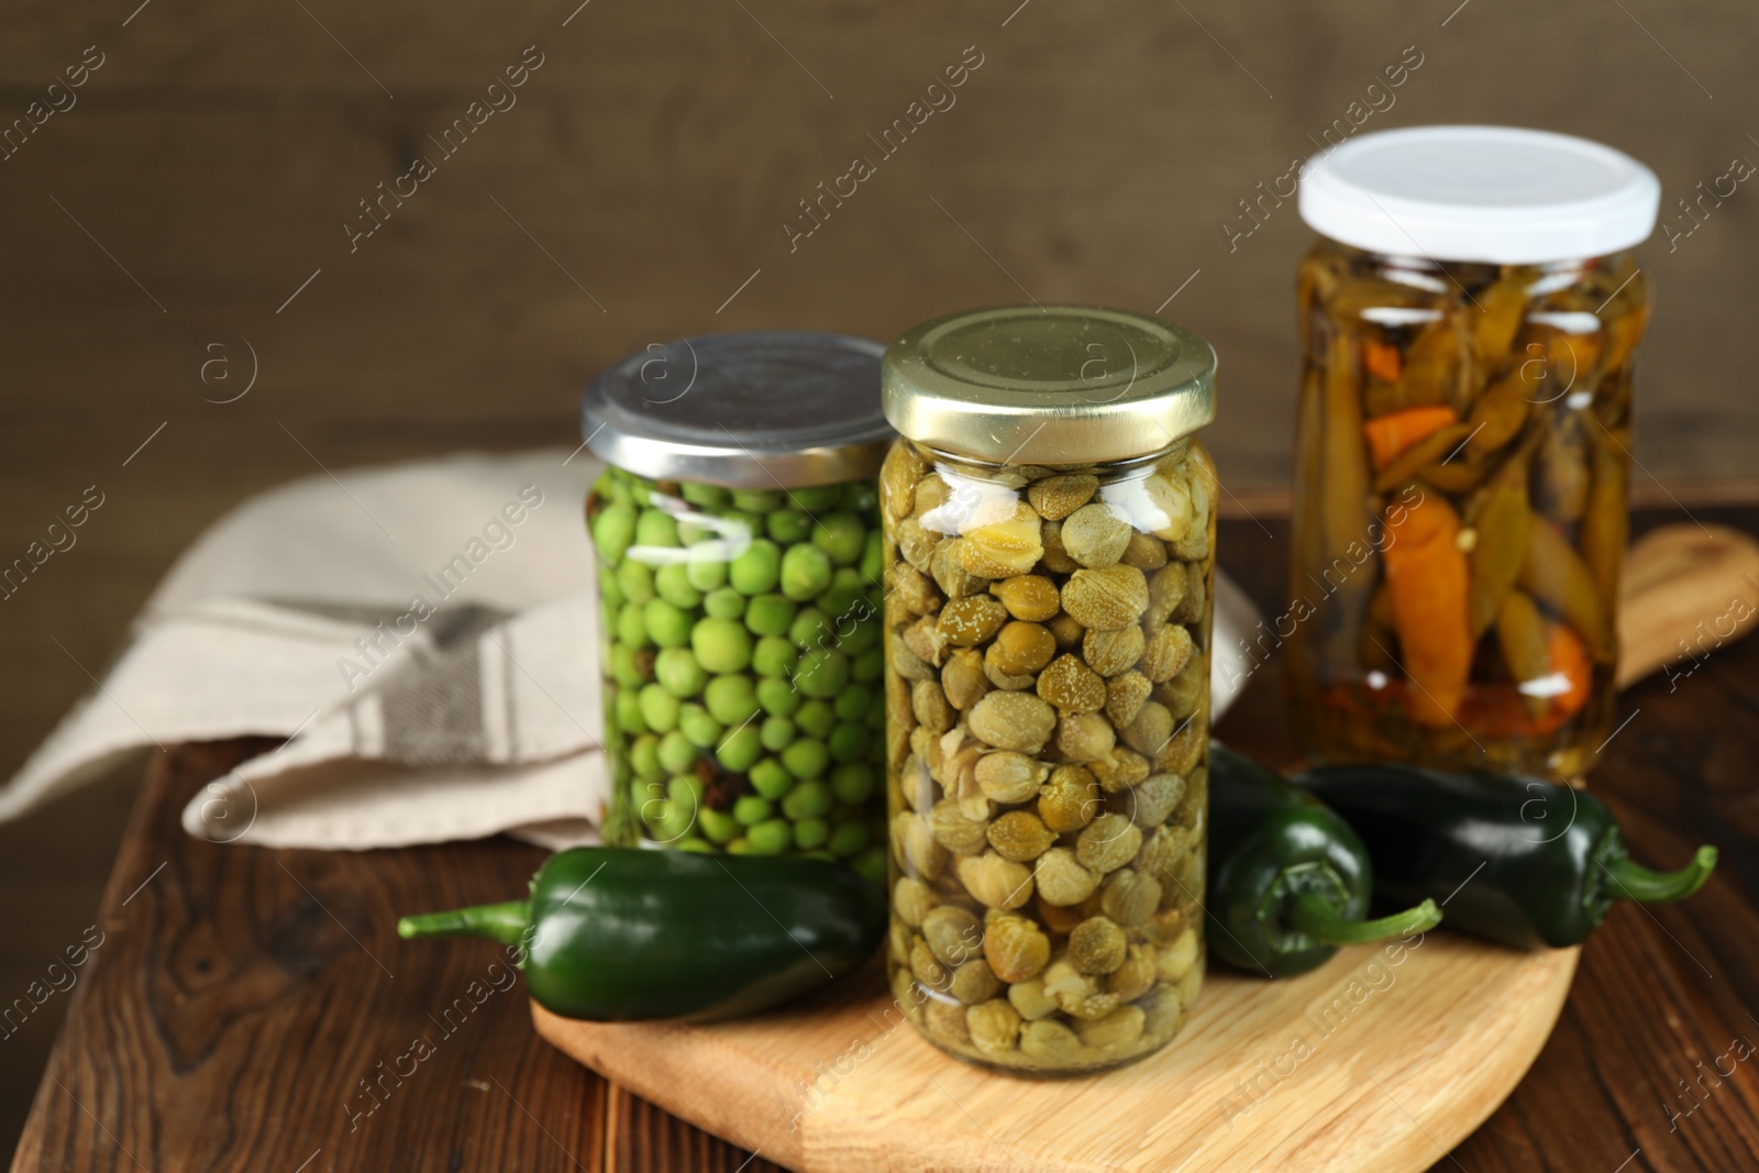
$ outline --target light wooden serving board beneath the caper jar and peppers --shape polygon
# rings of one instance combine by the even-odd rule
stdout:
[[[1444,1159],[1514,1089],[1576,957],[1430,934],[1284,981],[1212,967],[1163,1052],[1062,1080],[936,1050],[892,1009],[878,965],[714,1025],[531,1013],[595,1071],[802,1173],[1388,1173]]]

